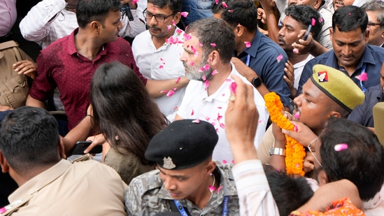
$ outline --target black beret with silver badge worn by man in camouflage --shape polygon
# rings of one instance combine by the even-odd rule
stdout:
[[[156,134],[145,151],[145,158],[166,169],[197,166],[211,157],[218,133],[211,123],[178,120]]]

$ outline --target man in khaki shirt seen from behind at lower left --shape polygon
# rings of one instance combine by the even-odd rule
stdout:
[[[0,215],[127,215],[127,185],[113,168],[62,157],[55,117],[28,106],[9,113],[0,128],[0,166],[19,188]]]

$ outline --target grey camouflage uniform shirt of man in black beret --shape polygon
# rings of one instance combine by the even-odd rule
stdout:
[[[222,165],[220,162],[216,163],[218,166],[215,172],[220,173],[220,187],[222,186],[222,189],[219,193],[213,192],[204,209],[199,208],[187,199],[180,200],[180,204],[190,215],[222,215],[224,196],[229,196],[227,215],[240,215],[239,197],[237,196],[236,185],[231,171],[233,164]],[[173,204],[173,198],[164,188],[159,177],[159,170],[134,178],[125,193],[125,208],[128,215],[155,215],[159,212],[170,212],[171,203]]]

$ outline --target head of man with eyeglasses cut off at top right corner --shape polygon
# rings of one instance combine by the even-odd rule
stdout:
[[[384,2],[369,1],[361,7],[368,15],[369,39],[371,45],[384,47]]]

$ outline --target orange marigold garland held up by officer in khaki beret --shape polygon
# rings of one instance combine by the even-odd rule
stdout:
[[[294,124],[281,113],[283,103],[281,103],[280,97],[275,92],[270,92],[264,96],[264,100],[272,122],[276,123],[281,129],[294,131]],[[304,176],[303,161],[306,155],[304,147],[290,136],[285,135],[285,138],[287,139],[287,144],[285,145],[287,173]]]

